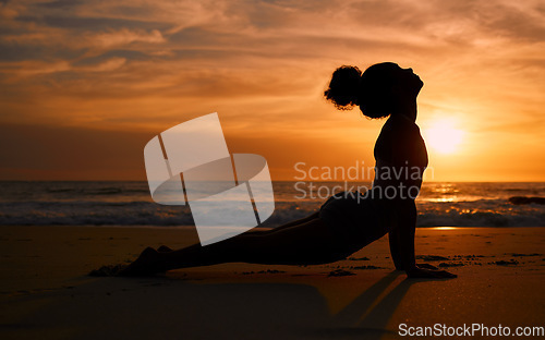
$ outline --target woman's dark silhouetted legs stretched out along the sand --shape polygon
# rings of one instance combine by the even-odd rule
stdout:
[[[167,253],[146,248],[122,274],[153,274],[233,262],[315,265],[336,262],[350,255],[352,250],[338,250],[332,240],[334,235],[325,222],[313,218],[300,224],[242,233],[207,246],[195,244]]]

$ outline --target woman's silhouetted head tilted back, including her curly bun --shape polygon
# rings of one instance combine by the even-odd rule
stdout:
[[[423,84],[412,69],[392,62],[374,64],[363,73],[344,65],[334,72],[324,96],[338,109],[350,110],[358,105],[366,117],[384,118],[415,100]]]

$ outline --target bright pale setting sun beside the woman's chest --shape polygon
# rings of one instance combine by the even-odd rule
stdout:
[[[449,120],[432,123],[424,134],[426,144],[440,154],[456,151],[463,137],[463,131],[456,129],[456,124]]]

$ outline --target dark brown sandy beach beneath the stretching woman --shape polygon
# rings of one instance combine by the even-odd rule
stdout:
[[[189,228],[2,227],[0,337],[403,339],[400,324],[545,326],[545,228],[419,229],[419,262],[459,276],[451,280],[395,271],[387,238],[324,266],[87,276],[146,245],[196,240]]]

